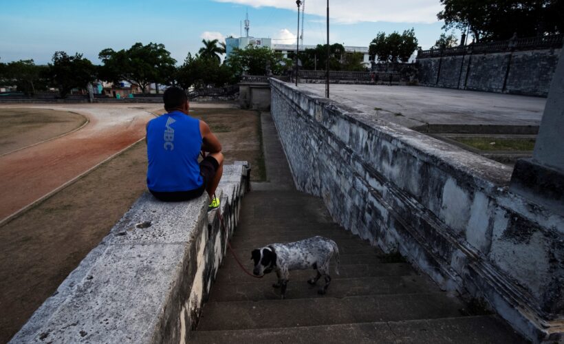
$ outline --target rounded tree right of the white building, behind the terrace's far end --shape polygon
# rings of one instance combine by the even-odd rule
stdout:
[[[370,43],[369,54],[373,59],[378,56],[382,62],[406,63],[417,50],[417,43],[413,28],[404,30],[402,34],[394,31],[388,36],[385,32],[378,32]]]

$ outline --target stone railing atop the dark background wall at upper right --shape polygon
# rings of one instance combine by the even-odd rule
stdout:
[[[474,43],[459,47],[448,47],[446,49],[420,50],[417,52],[417,59],[487,52],[507,52],[511,50],[558,49],[561,48],[562,45],[562,35],[528,37],[523,39],[510,39],[508,41]]]

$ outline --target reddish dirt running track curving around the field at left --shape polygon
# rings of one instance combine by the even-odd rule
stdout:
[[[74,111],[89,123],[61,138],[0,157],[0,221],[145,135],[159,105],[14,105]]]

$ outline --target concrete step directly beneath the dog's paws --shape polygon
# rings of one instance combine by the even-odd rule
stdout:
[[[247,282],[218,283],[213,286],[209,301],[278,300],[280,299],[280,290],[272,288],[273,282],[271,278],[265,277],[264,279]],[[326,296],[317,294],[318,288],[324,284],[325,282],[320,280],[317,282],[317,286],[310,286],[305,281],[292,279],[288,283],[286,297],[287,299],[343,298],[376,294],[421,294],[437,291],[437,285],[433,281],[417,275],[334,279]]]

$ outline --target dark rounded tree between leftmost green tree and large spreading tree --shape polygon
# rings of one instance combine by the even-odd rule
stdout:
[[[55,52],[49,64],[50,76],[58,88],[61,98],[74,88],[85,88],[88,83],[96,80],[96,67],[83,54],[67,55],[66,52]]]

